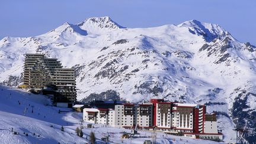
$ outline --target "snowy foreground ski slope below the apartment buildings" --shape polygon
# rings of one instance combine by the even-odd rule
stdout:
[[[111,143],[121,143],[120,132],[130,132],[126,129],[101,127],[100,124],[96,124],[94,129],[85,127],[84,137],[81,138],[76,136],[75,129],[80,126],[79,120],[82,118],[82,113],[62,112],[59,114],[59,108],[47,105],[49,101],[43,95],[30,95],[20,89],[3,86],[0,91],[0,143],[87,143],[91,131],[95,133],[97,143],[104,143],[100,139],[107,135],[107,132],[111,135]],[[24,116],[25,108],[27,111]],[[70,111],[65,108],[60,108],[60,110]],[[64,132],[60,130],[61,126],[64,127]],[[84,123],[84,126],[87,126],[87,123]],[[12,129],[13,132],[11,132]],[[18,135],[14,135],[14,132]],[[141,133],[140,138],[124,139],[123,142],[143,143],[144,140],[151,140],[149,136],[152,132],[140,131],[139,133]],[[157,135],[158,143],[217,143],[165,135],[160,132]]]

